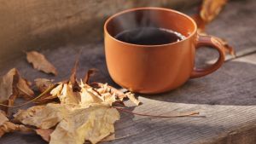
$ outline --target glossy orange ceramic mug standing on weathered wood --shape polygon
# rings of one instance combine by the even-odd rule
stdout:
[[[143,21],[143,22],[142,22]],[[185,38],[175,43],[141,45],[125,43],[115,36],[150,26],[179,32]],[[120,86],[143,94],[175,89],[189,78],[199,78],[216,71],[224,63],[224,46],[218,39],[197,33],[195,21],[172,9],[128,9],[109,17],[104,25],[105,55],[108,72]],[[206,68],[195,67],[195,49],[209,46],[218,50],[218,60]]]

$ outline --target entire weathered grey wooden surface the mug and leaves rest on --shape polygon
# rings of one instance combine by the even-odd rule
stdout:
[[[117,140],[105,143],[173,143],[173,144],[254,144],[256,141],[256,1],[232,1],[208,31],[226,37],[240,57],[228,60],[217,72],[189,80],[182,87],[161,95],[141,95],[143,105],[134,112],[171,114],[199,111],[206,118],[143,118],[121,113],[116,124]],[[232,10],[230,10],[232,9]],[[232,11],[232,12],[231,12]],[[234,14],[233,14],[234,12]],[[237,14],[238,13],[238,14]],[[250,16],[247,16],[249,14]],[[225,22],[223,22],[225,21]],[[244,26],[246,25],[246,26]],[[25,78],[67,78],[79,49],[79,77],[91,67],[100,70],[96,81],[113,81],[108,76],[102,42],[81,46],[67,45],[41,52],[59,70],[55,78],[32,69],[26,55],[0,62],[0,75],[16,67]],[[200,60],[212,58],[212,51],[202,50]],[[131,105],[126,101],[127,105]],[[132,106],[132,105],[131,105]],[[0,139],[2,144],[44,144],[38,135],[13,133]]]

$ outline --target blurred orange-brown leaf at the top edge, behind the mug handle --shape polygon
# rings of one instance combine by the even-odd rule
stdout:
[[[201,6],[201,19],[205,22],[212,21],[224,7],[228,0],[204,0]]]

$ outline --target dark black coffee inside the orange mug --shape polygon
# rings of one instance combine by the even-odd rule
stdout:
[[[141,27],[120,32],[115,38],[125,43],[159,45],[175,43],[183,40],[185,37],[178,32],[173,32],[172,30],[164,28]]]

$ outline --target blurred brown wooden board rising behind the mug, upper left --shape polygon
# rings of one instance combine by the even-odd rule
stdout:
[[[99,40],[106,18],[124,9],[184,9],[199,1],[0,0],[0,56],[20,49],[49,49]]]

